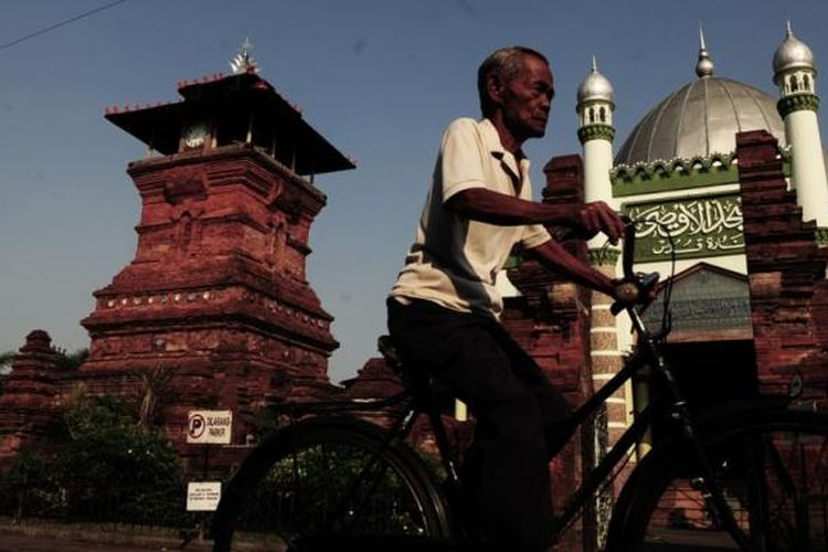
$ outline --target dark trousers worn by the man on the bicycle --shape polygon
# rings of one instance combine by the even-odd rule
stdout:
[[[389,330],[403,361],[426,370],[477,421],[461,467],[491,550],[540,551],[551,538],[549,460],[571,410],[538,364],[496,320],[429,301],[389,300]]]

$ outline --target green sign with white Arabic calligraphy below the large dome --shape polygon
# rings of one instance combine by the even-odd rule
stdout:
[[[624,205],[641,224],[636,231],[636,261],[732,255],[744,251],[739,194]]]

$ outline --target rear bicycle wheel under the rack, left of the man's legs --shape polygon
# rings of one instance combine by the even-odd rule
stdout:
[[[223,491],[214,552],[390,550],[448,537],[423,461],[385,440],[352,418],[304,421],[265,440]]]

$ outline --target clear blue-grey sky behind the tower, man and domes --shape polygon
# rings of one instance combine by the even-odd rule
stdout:
[[[575,92],[591,56],[615,88],[615,150],[668,94],[696,78],[702,24],[715,74],[776,96],[771,60],[789,20],[828,66],[825,0],[3,0],[0,17],[0,352],[35,328],[68,351],[93,291],[135,254],[140,202],[127,163],[146,148],[107,106],[176,100],[245,38],[261,76],[358,168],[317,177],[308,279],[335,318],[331,380],[353,376],[385,331],[384,299],[414,235],[439,137],[477,117],[479,63],[514,44],[546,54],[558,96],[543,164],[578,153]],[[828,89],[817,77],[817,92]],[[825,134],[828,107],[819,114]]]

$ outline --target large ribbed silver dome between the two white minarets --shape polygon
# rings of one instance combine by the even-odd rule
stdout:
[[[715,76],[670,94],[633,129],[615,163],[709,157],[736,149],[736,132],[764,129],[785,146],[776,99],[753,86]]]

